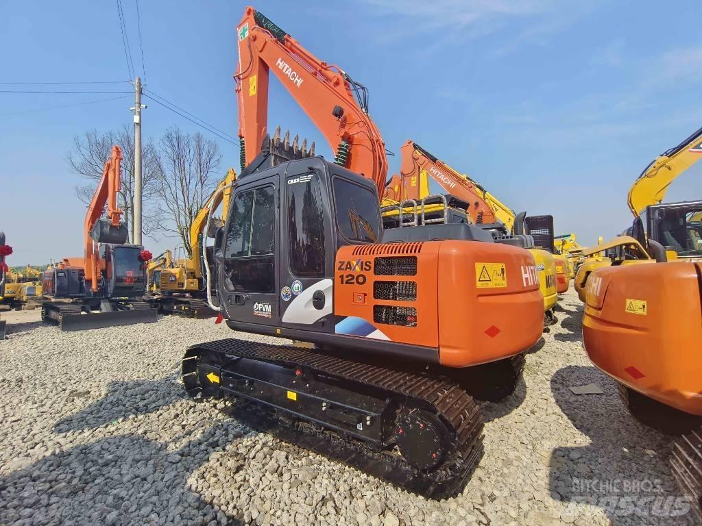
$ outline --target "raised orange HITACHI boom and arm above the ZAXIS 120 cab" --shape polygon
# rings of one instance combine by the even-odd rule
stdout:
[[[335,65],[314,57],[277,25],[251,7],[237,26],[239,65],[234,80],[239,98],[241,169],[261,150],[267,136],[268,80],[272,72],[319,128],[336,163],[385,187],[385,143],[368,113],[364,86]]]

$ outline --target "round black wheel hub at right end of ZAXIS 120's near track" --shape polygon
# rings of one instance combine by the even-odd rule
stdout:
[[[395,442],[402,457],[421,470],[435,468],[444,460],[448,449],[448,430],[435,414],[412,410],[399,414],[395,426]]]

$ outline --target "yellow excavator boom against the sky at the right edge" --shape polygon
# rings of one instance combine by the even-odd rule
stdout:
[[[651,161],[629,189],[629,210],[639,217],[646,207],[663,202],[670,183],[702,159],[702,128]]]

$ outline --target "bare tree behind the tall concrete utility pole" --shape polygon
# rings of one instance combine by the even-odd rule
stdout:
[[[102,177],[102,168],[109,159],[112,145],[117,144],[122,149],[122,177],[119,191],[119,205],[124,210],[124,221],[130,232],[131,241],[134,239],[134,137],[131,128],[124,126],[119,131],[109,131],[99,134],[90,130],[84,135],[77,135],[73,140],[73,149],[68,152],[67,159],[74,173],[87,180],[83,186],[75,188],[76,195],[86,205],[91,202],[95,187]],[[142,228],[146,236],[152,237],[161,224],[161,209],[159,198],[159,162],[157,149],[151,141],[142,147]]]

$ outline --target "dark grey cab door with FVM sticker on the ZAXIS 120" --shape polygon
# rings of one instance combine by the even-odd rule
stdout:
[[[227,318],[279,325],[279,176],[239,185],[227,221],[219,297]]]

